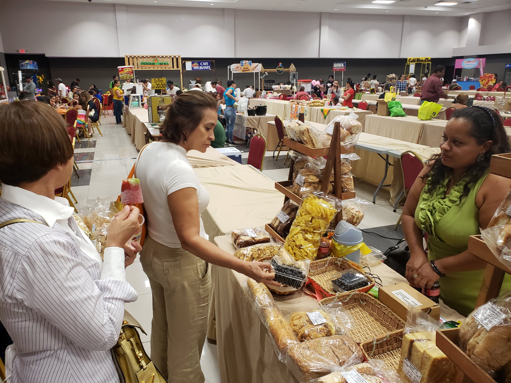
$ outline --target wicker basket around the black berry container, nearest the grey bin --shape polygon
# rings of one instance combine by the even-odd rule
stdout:
[[[309,267],[309,282],[313,280],[321,288],[315,289],[316,291],[314,293],[321,294],[321,299],[336,295],[337,292],[332,288],[332,279],[334,279],[335,274],[347,269],[356,269],[369,279],[369,284],[367,286],[353,291],[367,293],[375,285],[375,280],[363,270],[360,270],[356,264],[351,264],[349,261],[342,258],[329,257],[311,262]],[[306,285],[308,291],[313,288],[311,283]]]

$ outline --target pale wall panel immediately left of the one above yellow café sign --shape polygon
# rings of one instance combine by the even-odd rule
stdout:
[[[403,16],[331,13],[329,51],[323,57],[399,57]]]

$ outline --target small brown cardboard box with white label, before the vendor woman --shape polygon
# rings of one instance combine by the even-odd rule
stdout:
[[[378,299],[406,322],[408,302],[419,307],[435,319],[440,319],[440,306],[425,295],[413,289],[408,283],[383,286]]]

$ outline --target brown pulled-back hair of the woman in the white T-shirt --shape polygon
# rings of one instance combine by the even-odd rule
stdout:
[[[185,133],[190,134],[199,126],[207,108],[217,111],[217,100],[211,95],[195,90],[182,93],[167,109],[161,135],[178,143]]]

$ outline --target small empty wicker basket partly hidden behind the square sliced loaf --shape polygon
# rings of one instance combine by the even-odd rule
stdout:
[[[403,343],[403,330],[394,331],[384,337],[362,342],[360,347],[366,359],[379,359],[394,371],[398,371]]]

